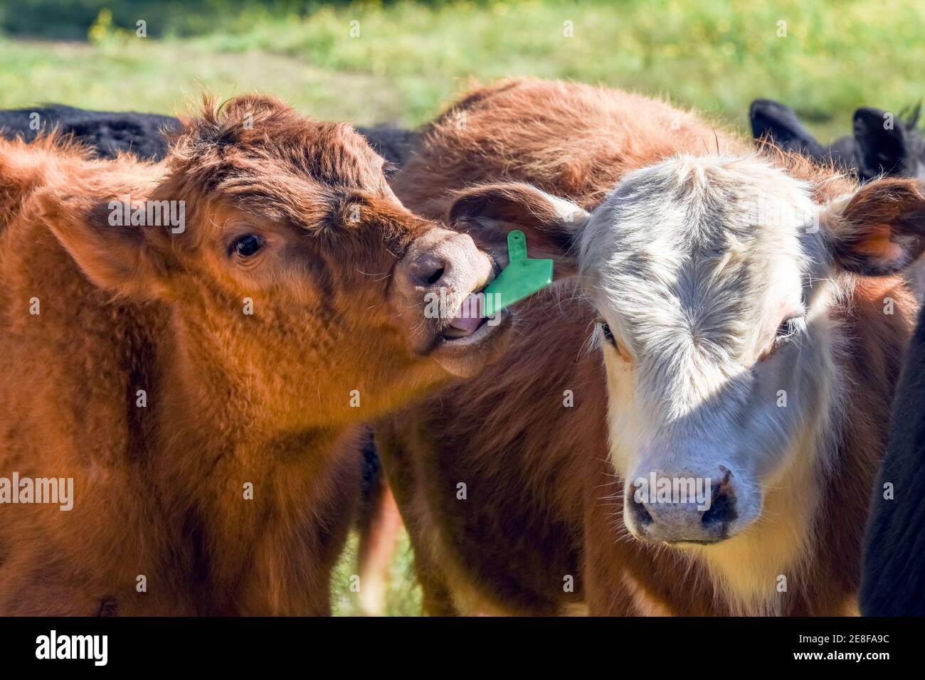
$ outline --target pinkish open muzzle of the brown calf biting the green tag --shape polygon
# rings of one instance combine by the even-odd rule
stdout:
[[[510,319],[483,317],[478,298],[494,276],[491,258],[467,234],[435,227],[418,236],[395,268],[391,291],[409,350],[460,377],[498,356]]]

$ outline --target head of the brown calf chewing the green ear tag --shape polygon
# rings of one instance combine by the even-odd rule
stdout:
[[[221,375],[271,399],[277,424],[314,426],[469,373],[506,336],[454,321],[490,260],[406,210],[382,167],[349,126],[247,95],[185,121],[160,177],[39,201],[95,284],[171,305],[192,379]]]

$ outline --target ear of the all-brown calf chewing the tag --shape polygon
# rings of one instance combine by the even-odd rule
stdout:
[[[45,191],[35,200],[39,216],[96,286],[136,300],[170,297],[165,228],[126,224],[115,199]]]

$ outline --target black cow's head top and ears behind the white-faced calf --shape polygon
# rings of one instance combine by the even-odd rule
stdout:
[[[857,173],[861,181],[880,175],[925,177],[925,142],[919,135],[919,106],[906,115],[888,117],[879,108],[855,111],[854,131],[828,146],[817,141],[789,106],[756,99],[748,108],[756,140],[769,139],[787,151]],[[892,123],[892,124],[888,124]]]

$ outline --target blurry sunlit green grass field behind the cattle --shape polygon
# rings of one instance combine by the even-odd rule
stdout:
[[[136,35],[140,19],[146,38]],[[828,141],[849,130],[857,106],[898,113],[918,103],[922,68],[920,0],[0,5],[3,108],[177,113],[203,89],[259,90],[316,117],[416,126],[470,78],[530,74],[670,97],[741,130],[752,99],[780,99]],[[353,550],[355,541],[334,578],[341,614],[357,611]],[[407,539],[397,555],[388,611],[418,613]]]

